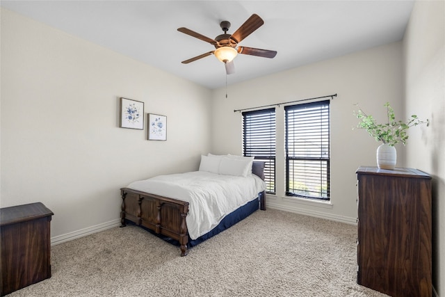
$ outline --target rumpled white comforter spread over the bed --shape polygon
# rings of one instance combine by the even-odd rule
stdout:
[[[252,174],[236,177],[193,171],[159,175],[132,182],[127,188],[189,202],[188,235],[197,239],[216,227],[227,214],[257,198],[266,189],[266,183]]]

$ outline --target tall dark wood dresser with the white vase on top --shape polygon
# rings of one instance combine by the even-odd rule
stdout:
[[[432,296],[431,177],[360,167],[357,283],[389,296]]]

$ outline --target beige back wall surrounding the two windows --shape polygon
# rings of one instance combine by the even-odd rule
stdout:
[[[328,61],[298,67],[268,77],[229,86],[213,93],[213,152],[242,153],[242,115],[245,109],[298,99],[332,95],[331,101],[331,190],[330,204],[289,198],[284,195],[284,105],[277,115],[277,195],[268,195],[267,205],[276,209],[331,218],[346,223],[357,219],[355,170],[375,166],[379,143],[363,130],[353,130],[355,105],[385,120],[385,102],[403,115],[402,44],[395,42]],[[228,132],[229,131],[229,132]],[[398,166],[403,165],[404,147],[398,147]]]

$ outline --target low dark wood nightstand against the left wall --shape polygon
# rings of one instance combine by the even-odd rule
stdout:
[[[1,296],[51,278],[52,215],[40,202],[0,209]]]

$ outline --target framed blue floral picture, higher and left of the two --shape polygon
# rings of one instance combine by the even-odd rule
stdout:
[[[144,129],[144,102],[120,98],[120,127]]]

